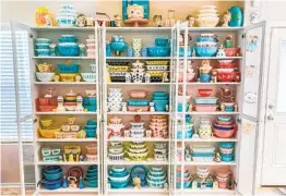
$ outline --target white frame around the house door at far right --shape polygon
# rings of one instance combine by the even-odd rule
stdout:
[[[265,135],[265,115],[267,103],[267,88],[269,88],[269,70],[270,70],[270,51],[272,41],[273,28],[286,28],[286,21],[271,21],[265,23],[265,36],[264,36],[264,59],[262,64],[262,84],[261,84],[261,101],[259,113],[259,130],[255,138],[255,164],[254,164],[254,183],[253,194],[257,194],[258,188],[262,186],[262,166],[263,166],[263,146]]]

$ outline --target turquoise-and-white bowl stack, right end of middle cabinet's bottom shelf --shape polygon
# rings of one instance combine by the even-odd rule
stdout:
[[[163,188],[167,182],[166,171],[162,167],[152,167],[147,173],[147,184],[150,187]]]

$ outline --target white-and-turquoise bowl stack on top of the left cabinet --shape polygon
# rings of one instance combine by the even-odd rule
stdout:
[[[74,26],[76,17],[78,14],[73,5],[62,4],[57,15],[57,23],[59,26],[65,26],[65,27]]]

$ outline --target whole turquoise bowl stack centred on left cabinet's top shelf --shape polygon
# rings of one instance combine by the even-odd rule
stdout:
[[[62,35],[57,49],[60,56],[63,57],[76,57],[80,54],[79,41],[74,35]]]

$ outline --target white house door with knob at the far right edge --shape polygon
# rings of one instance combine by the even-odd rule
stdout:
[[[262,185],[286,185],[286,28],[273,28]]]

